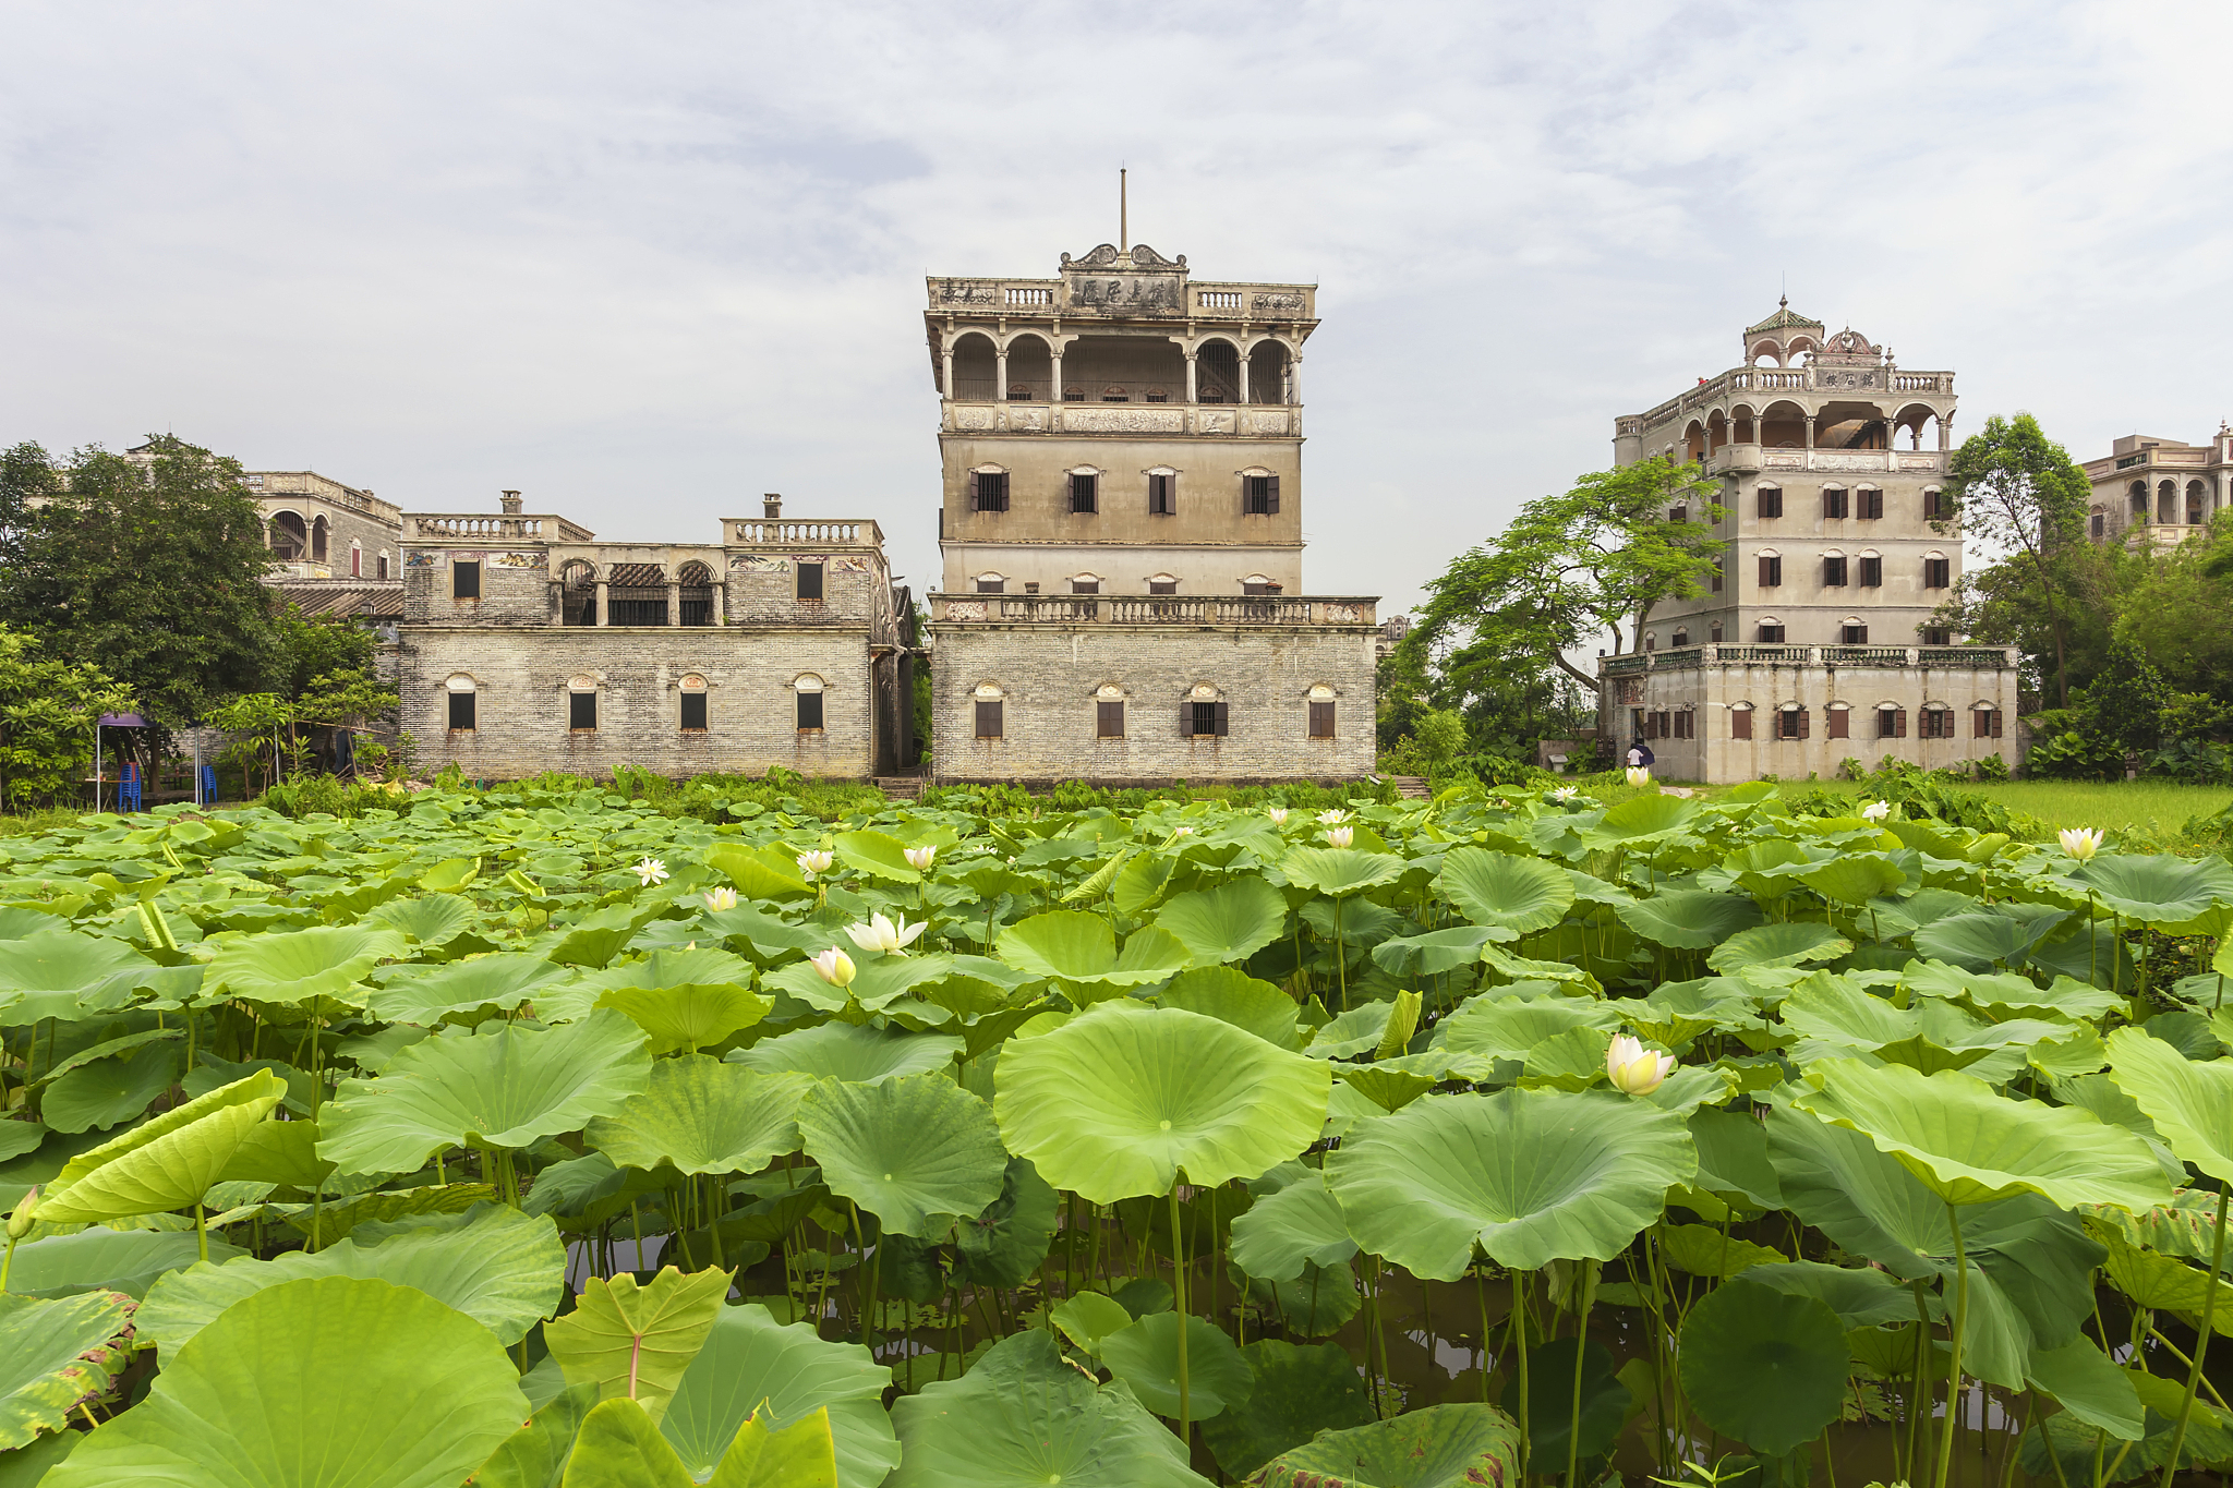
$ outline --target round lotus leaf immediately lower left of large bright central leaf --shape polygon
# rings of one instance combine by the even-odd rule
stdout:
[[[799,1136],[833,1194],[918,1240],[980,1214],[1007,1173],[991,1111],[942,1075],[824,1080],[799,1102]]]

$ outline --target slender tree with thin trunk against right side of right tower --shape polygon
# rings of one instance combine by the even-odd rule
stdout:
[[[1994,415],[1983,433],[1963,439],[1947,466],[1947,515],[1932,522],[1940,533],[2001,549],[2014,564],[2016,587],[2039,596],[2048,642],[2054,649],[2054,687],[2070,707],[2068,555],[2083,544],[2086,502],[2092,486],[2070,464],[2068,451],[2048,439],[2039,419],[2019,413]]]

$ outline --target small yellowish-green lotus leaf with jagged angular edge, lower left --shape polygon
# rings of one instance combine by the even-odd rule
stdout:
[[[672,1265],[650,1283],[592,1276],[574,1312],[543,1325],[543,1341],[569,1385],[594,1383],[601,1401],[627,1397],[659,1421],[721,1318],[730,1278]]]

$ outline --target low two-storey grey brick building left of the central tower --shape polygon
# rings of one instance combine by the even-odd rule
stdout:
[[[556,515],[402,520],[404,732],[420,767],[860,779],[907,761],[907,596],[875,522],[723,518],[636,544]]]

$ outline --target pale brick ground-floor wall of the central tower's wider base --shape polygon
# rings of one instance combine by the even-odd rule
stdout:
[[[931,636],[940,781],[1358,779],[1373,767],[1371,627],[938,625]],[[978,687],[1005,698],[1000,738],[976,736]],[[1179,734],[1197,685],[1226,700],[1224,738]],[[1335,736],[1311,738],[1309,689],[1335,692]],[[1101,687],[1125,736],[1096,738]]]

